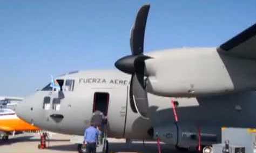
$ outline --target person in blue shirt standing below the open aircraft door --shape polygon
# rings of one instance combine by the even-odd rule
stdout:
[[[99,131],[95,123],[91,122],[91,126],[85,129],[84,142],[86,144],[86,153],[96,153],[98,144]]]

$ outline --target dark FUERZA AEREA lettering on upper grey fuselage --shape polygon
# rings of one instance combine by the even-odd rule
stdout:
[[[105,79],[105,78],[79,78],[80,83],[100,83],[100,84],[121,84],[121,85],[129,85],[130,81],[125,79]]]

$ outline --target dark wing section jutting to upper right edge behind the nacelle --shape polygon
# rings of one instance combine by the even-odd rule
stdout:
[[[255,60],[256,24],[220,45],[218,52],[230,56]]]

